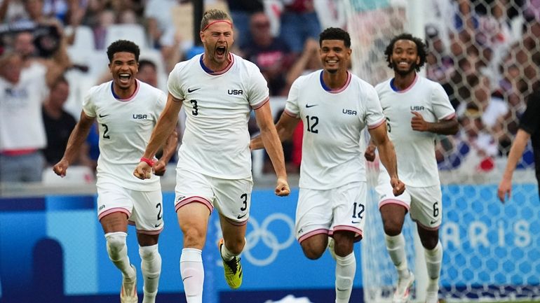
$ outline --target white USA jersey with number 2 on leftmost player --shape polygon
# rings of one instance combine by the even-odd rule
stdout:
[[[115,97],[112,81],[88,91],[83,111],[95,117],[100,130],[100,157],[97,159],[97,184],[114,182],[130,190],[159,190],[159,177],[141,180],[133,176],[165,108],[166,94],[137,80],[137,89],[129,99]]]

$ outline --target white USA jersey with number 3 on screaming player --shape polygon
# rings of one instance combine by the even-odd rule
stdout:
[[[219,72],[208,70],[202,55],[176,64],[168,90],[183,100],[187,119],[178,167],[224,179],[251,177],[251,108],[269,100],[266,80],[251,62],[230,54]]]

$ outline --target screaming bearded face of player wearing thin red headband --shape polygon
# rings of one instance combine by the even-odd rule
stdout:
[[[227,66],[229,49],[234,42],[230,22],[228,20],[211,20],[210,26],[201,31],[200,35],[206,59],[209,60],[211,65],[208,67],[216,69]]]

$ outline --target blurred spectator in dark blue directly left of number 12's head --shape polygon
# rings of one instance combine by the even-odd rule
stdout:
[[[315,6],[313,0],[281,1],[284,4],[281,12],[281,38],[292,52],[299,55],[307,38],[318,40],[321,29]]]

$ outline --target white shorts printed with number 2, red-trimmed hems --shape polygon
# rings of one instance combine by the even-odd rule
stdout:
[[[113,183],[97,185],[97,218],[109,213],[126,213],[137,232],[159,234],[163,230],[163,196],[161,190],[140,192]]]

